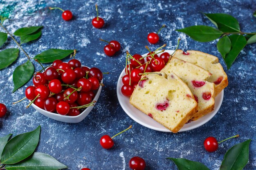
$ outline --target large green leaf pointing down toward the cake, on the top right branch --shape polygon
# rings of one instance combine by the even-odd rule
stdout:
[[[245,47],[247,41],[243,35],[230,35],[229,39],[231,40],[231,50],[224,58],[224,61],[229,69],[233,62],[236,60],[236,57],[240,51]]]

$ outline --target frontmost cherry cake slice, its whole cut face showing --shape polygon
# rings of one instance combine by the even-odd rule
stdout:
[[[130,97],[130,104],[172,132],[178,132],[197,110],[188,86],[174,73],[143,75]]]

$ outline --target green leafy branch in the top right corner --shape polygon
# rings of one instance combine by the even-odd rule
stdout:
[[[225,13],[204,13],[204,15],[216,26],[197,25],[178,29],[199,42],[209,42],[219,38],[217,49],[224,59],[227,68],[236,60],[236,57],[247,44],[256,42],[256,33],[240,31],[238,20]],[[256,12],[254,13],[256,17]],[[245,36],[244,36],[245,35]]]

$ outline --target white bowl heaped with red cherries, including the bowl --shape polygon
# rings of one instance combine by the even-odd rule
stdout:
[[[92,110],[101,93],[103,73],[99,68],[82,66],[72,59],[55,60],[33,77],[25,95],[39,113],[67,123],[79,123]]]

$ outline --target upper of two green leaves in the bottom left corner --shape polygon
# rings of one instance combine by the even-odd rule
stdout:
[[[32,155],[39,142],[40,129],[41,127],[38,126],[31,132],[22,133],[9,140],[4,146],[1,156],[1,163],[18,163]]]

